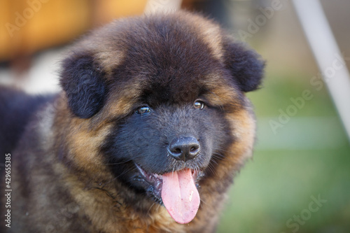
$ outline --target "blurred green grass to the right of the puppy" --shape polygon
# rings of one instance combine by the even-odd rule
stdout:
[[[271,76],[248,94],[258,141],[235,178],[218,232],[350,232],[349,141],[327,90],[316,90],[310,78]],[[279,109],[286,111],[304,90],[314,97],[274,134],[270,120],[278,122]],[[327,202],[302,222],[293,220],[318,195]]]

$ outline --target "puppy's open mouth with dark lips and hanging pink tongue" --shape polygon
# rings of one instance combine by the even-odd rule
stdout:
[[[135,164],[150,186],[156,199],[165,205],[168,213],[177,223],[190,223],[200,207],[200,194],[197,181],[203,176],[202,171],[182,169],[166,174],[151,174]]]

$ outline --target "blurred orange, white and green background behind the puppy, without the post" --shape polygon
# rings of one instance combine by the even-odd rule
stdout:
[[[349,69],[350,1],[321,4]],[[146,6],[146,0],[1,0],[0,84],[57,92],[59,61],[73,41]],[[258,121],[253,160],[235,179],[218,232],[350,232],[349,140],[293,4],[183,0],[181,8],[214,18],[267,61],[262,89],[248,93]]]

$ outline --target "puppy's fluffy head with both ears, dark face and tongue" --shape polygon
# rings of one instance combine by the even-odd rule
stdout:
[[[112,125],[99,153],[117,181],[188,223],[200,203],[196,186],[253,128],[232,122],[248,112],[243,92],[260,85],[262,68],[213,22],[174,13],[88,36],[64,61],[61,83],[77,118]]]

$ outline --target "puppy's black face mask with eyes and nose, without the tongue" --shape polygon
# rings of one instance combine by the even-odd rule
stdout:
[[[234,139],[221,108],[204,97],[181,104],[141,101],[106,144],[116,176],[160,201],[161,175],[190,169],[199,181],[210,173]]]

